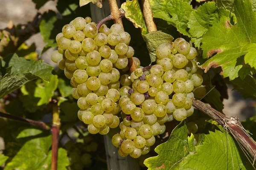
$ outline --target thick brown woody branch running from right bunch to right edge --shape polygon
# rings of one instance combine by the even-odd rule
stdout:
[[[256,142],[248,135],[247,131],[241,125],[237,117],[225,116],[224,114],[216,111],[214,108],[197,99],[193,100],[193,106],[207,114],[210,118],[218,122],[219,125],[222,125],[225,130],[231,133],[240,145],[244,154],[247,156],[250,163],[252,165],[254,164],[256,159]]]

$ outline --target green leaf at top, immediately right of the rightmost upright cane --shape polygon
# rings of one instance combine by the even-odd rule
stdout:
[[[187,29],[192,6],[181,0],[150,0],[154,17],[168,21],[181,34],[190,37]]]

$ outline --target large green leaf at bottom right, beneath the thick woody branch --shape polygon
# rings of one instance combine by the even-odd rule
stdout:
[[[155,148],[158,156],[148,158],[148,170],[245,170],[232,137],[226,131],[209,131],[196,152],[189,152],[186,124],[175,127],[167,142]]]

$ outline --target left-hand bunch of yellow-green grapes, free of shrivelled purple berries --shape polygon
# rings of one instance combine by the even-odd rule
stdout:
[[[134,55],[130,40],[121,25],[108,28],[103,24],[98,30],[90,17],[77,17],[56,36],[58,50],[51,59],[71,79],[72,95],[80,108],[78,117],[92,134],[105,135],[119,125],[118,69],[127,70],[128,58]]]

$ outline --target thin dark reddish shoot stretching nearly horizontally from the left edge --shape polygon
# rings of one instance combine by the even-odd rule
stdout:
[[[51,129],[51,127],[49,127],[49,126],[48,126],[47,124],[45,124],[44,122],[35,121],[35,120],[31,120],[31,119],[26,119],[26,118],[14,116],[14,115],[11,115],[11,114],[9,114],[9,113],[0,112],[0,117],[5,117],[5,118],[7,118],[7,119],[16,120],[16,121],[19,121],[19,122],[26,122],[26,123],[29,123],[30,125],[40,126],[40,127],[42,127],[43,129],[45,129],[45,130]]]

